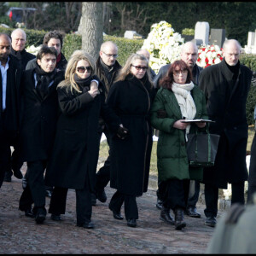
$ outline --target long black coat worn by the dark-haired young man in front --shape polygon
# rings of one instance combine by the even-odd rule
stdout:
[[[58,117],[56,86],[64,73],[55,75],[49,93],[42,98],[36,88],[34,70],[25,71],[21,84],[22,120],[20,128],[21,160],[47,160],[54,143]]]

